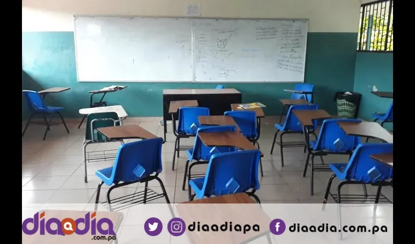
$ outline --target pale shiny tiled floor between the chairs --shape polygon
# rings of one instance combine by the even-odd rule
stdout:
[[[275,145],[274,153],[270,155],[270,147],[277,118],[268,117],[263,120],[261,138],[259,140],[264,158],[264,177],[260,178],[261,188],[257,192],[264,203],[321,203],[325,187],[331,173],[316,172],[314,180],[314,196],[310,195],[310,178],[302,177],[302,170],[306,154],[302,148],[284,148],[284,163],[281,166],[279,147]],[[129,118],[125,124],[136,123],[148,131],[163,137],[163,127],[157,120],[140,122],[138,118]],[[63,126],[53,126],[48,132],[45,141],[42,141],[44,127],[29,125],[22,139],[22,205],[26,203],[90,203],[96,187],[99,183],[95,176],[95,170],[108,167],[112,162],[90,163],[87,166],[88,183],[83,182],[83,156],[82,141],[85,133],[84,125],[77,128],[78,122],[68,122],[70,134],[67,134]],[[163,145],[163,180],[168,197],[171,202],[187,201],[187,191],[182,191],[184,165],[186,154],[181,152],[181,157],[176,159],[176,169],[171,170],[173,157],[174,135],[171,133],[171,124],[167,125],[167,142]],[[285,135],[284,140],[300,141],[302,135]],[[193,144],[193,139],[182,140],[182,144]],[[118,143],[93,144],[88,150],[107,150],[118,148]],[[316,158],[317,161],[319,159]],[[325,163],[347,162],[347,156],[328,156]],[[193,172],[204,172],[205,165],[195,167]],[[335,190],[337,182],[333,183]],[[128,188],[136,189],[143,185],[129,185]],[[149,186],[157,187],[157,182],[149,183]],[[104,186],[105,188],[105,186]],[[368,186],[371,194],[375,188]],[[344,187],[343,192],[360,194],[360,185]],[[383,194],[392,199],[393,189],[384,187]],[[93,200],[92,200],[93,201]]]

